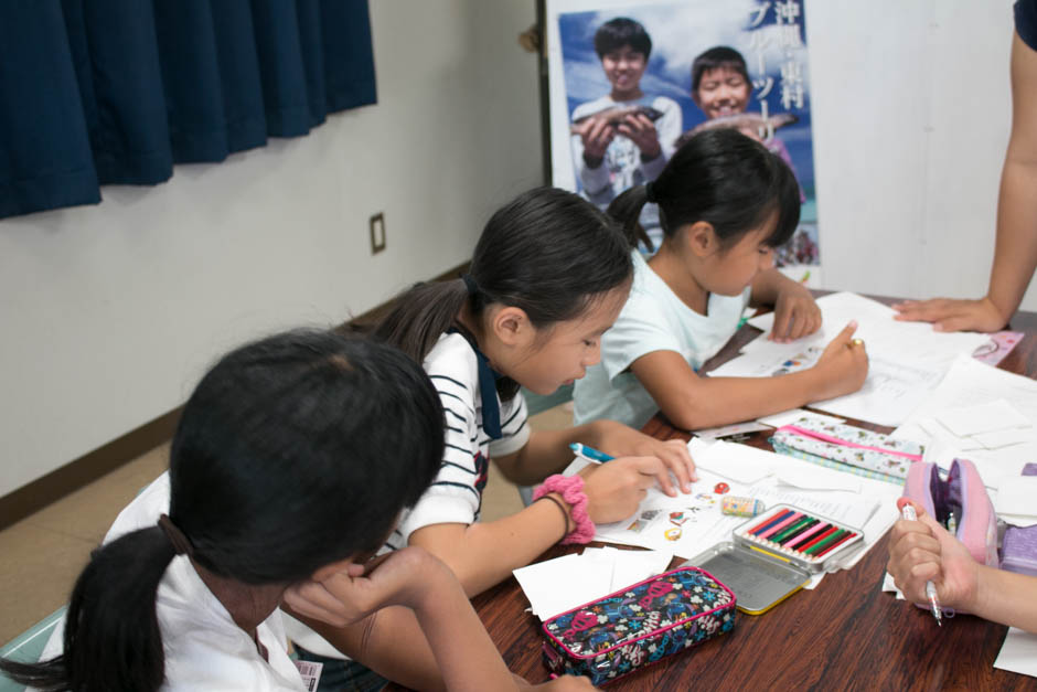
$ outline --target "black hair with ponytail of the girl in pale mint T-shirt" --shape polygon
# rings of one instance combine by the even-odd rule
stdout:
[[[778,247],[792,237],[800,222],[800,189],[792,170],[767,147],[730,128],[705,130],[688,139],[649,184],[652,200],[645,187],[638,185],[609,206],[631,245],[644,239],[638,215],[648,201],[659,204],[665,237],[705,221],[723,244],[730,245],[777,215],[766,243]]]

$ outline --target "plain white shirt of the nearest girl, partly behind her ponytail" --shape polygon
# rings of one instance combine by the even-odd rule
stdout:
[[[124,509],[105,542],[153,526],[169,511],[169,473],[162,473]],[[302,678],[288,657],[281,611],[257,628],[269,662],[256,642],[238,627],[223,604],[202,582],[186,555],[173,557],[159,584],[156,599],[159,629],[165,650],[162,690],[293,690],[304,691]],[[41,660],[62,651],[64,621],[52,632]]]

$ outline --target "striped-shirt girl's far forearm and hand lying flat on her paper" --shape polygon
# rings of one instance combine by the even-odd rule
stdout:
[[[560,473],[573,461],[569,445],[581,443],[613,457],[659,457],[676,476],[678,486],[691,491],[695,464],[683,440],[659,440],[616,420],[594,420],[560,430],[534,430],[516,454],[494,458],[507,480],[532,486],[552,473]],[[667,491],[665,486],[663,490]]]

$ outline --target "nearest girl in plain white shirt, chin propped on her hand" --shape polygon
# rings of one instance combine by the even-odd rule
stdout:
[[[307,690],[277,608],[311,585],[365,629],[411,609],[428,638],[413,653],[430,649],[448,688],[515,689],[442,563],[364,564],[438,471],[442,429],[428,379],[389,347],[298,331],[232,352],[76,582],[60,656],[0,670],[43,690]]]

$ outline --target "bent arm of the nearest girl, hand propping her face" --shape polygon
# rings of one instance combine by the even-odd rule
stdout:
[[[420,549],[292,588],[286,605],[389,680],[419,690],[522,689],[449,568]]]

